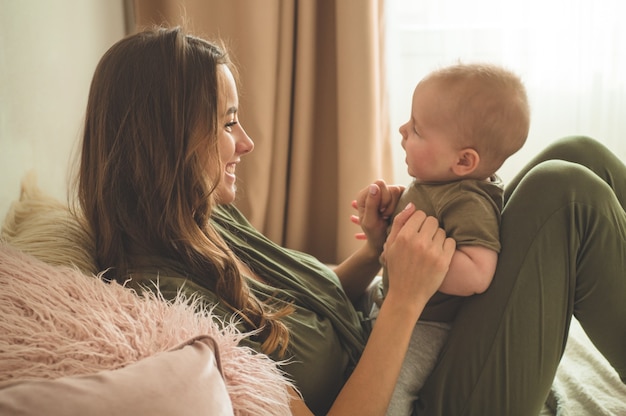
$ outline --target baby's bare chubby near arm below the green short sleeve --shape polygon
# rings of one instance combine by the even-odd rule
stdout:
[[[448,295],[471,296],[491,284],[498,253],[483,246],[457,246],[446,277],[439,288]]]

